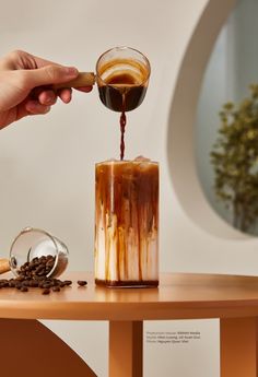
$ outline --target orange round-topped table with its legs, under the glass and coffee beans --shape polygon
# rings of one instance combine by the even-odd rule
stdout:
[[[0,290],[0,344],[4,344],[1,354],[7,365],[16,361],[9,352],[12,347],[19,350],[22,363],[32,352],[32,344],[37,344],[30,365],[34,362],[38,365],[38,360],[42,366],[47,364],[43,363],[47,352],[50,357],[48,377],[95,376],[79,356],[35,319],[108,320],[109,376],[140,377],[143,320],[220,318],[221,377],[257,376],[258,278],[162,274],[159,288],[99,287],[95,286],[92,274],[82,272],[64,278],[86,279],[89,285],[78,287],[73,284],[46,296],[36,288],[28,293]],[[35,338],[43,341],[35,343]],[[50,367],[54,362],[58,374]],[[38,377],[46,376],[46,372],[38,373]],[[31,377],[30,373],[26,376]]]

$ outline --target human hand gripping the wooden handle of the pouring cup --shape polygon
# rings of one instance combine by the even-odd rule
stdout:
[[[68,104],[72,90],[54,91],[51,85],[66,83],[78,74],[73,67],[20,50],[0,59],[0,129],[25,116],[48,113],[57,97]],[[90,92],[92,86],[80,90]]]

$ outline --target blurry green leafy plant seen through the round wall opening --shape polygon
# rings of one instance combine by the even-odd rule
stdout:
[[[216,197],[233,213],[233,225],[250,232],[258,216],[258,85],[238,106],[219,113],[219,136],[211,151]]]

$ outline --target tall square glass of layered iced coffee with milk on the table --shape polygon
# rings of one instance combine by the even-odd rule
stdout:
[[[95,282],[159,284],[159,164],[106,161],[95,172]]]

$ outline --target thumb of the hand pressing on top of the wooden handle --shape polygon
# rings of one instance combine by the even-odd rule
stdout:
[[[39,85],[59,84],[72,79],[79,74],[74,67],[63,67],[49,64],[38,69],[26,70],[26,83],[30,87]]]

